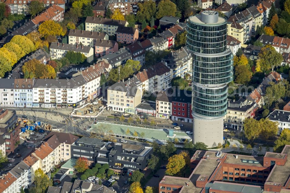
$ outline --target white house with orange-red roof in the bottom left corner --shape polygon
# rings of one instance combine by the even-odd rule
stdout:
[[[11,172],[7,172],[0,176],[0,192],[18,192],[17,178]]]

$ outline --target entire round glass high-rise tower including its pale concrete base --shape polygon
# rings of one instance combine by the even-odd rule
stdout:
[[[233,80],[233,54],[226,48],[226,19],[216,11],[189,18],[187,48],[193,52],[193,143],[223,142],[227,83]]]

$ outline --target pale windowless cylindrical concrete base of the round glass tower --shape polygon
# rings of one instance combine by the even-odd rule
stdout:
[[[200,119],[193,117],[193,143],[203,142],[208,147],[213,143],[223,143],[223,117],[217,119]]]

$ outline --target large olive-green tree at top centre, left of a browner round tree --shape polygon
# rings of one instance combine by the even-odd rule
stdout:
[[[151,17],[156,13],[156,3],[152,0],[138,3],[137,20],[142,22],[144,19],[150,21]],[[152,27],[152,26],[151,26]]]

